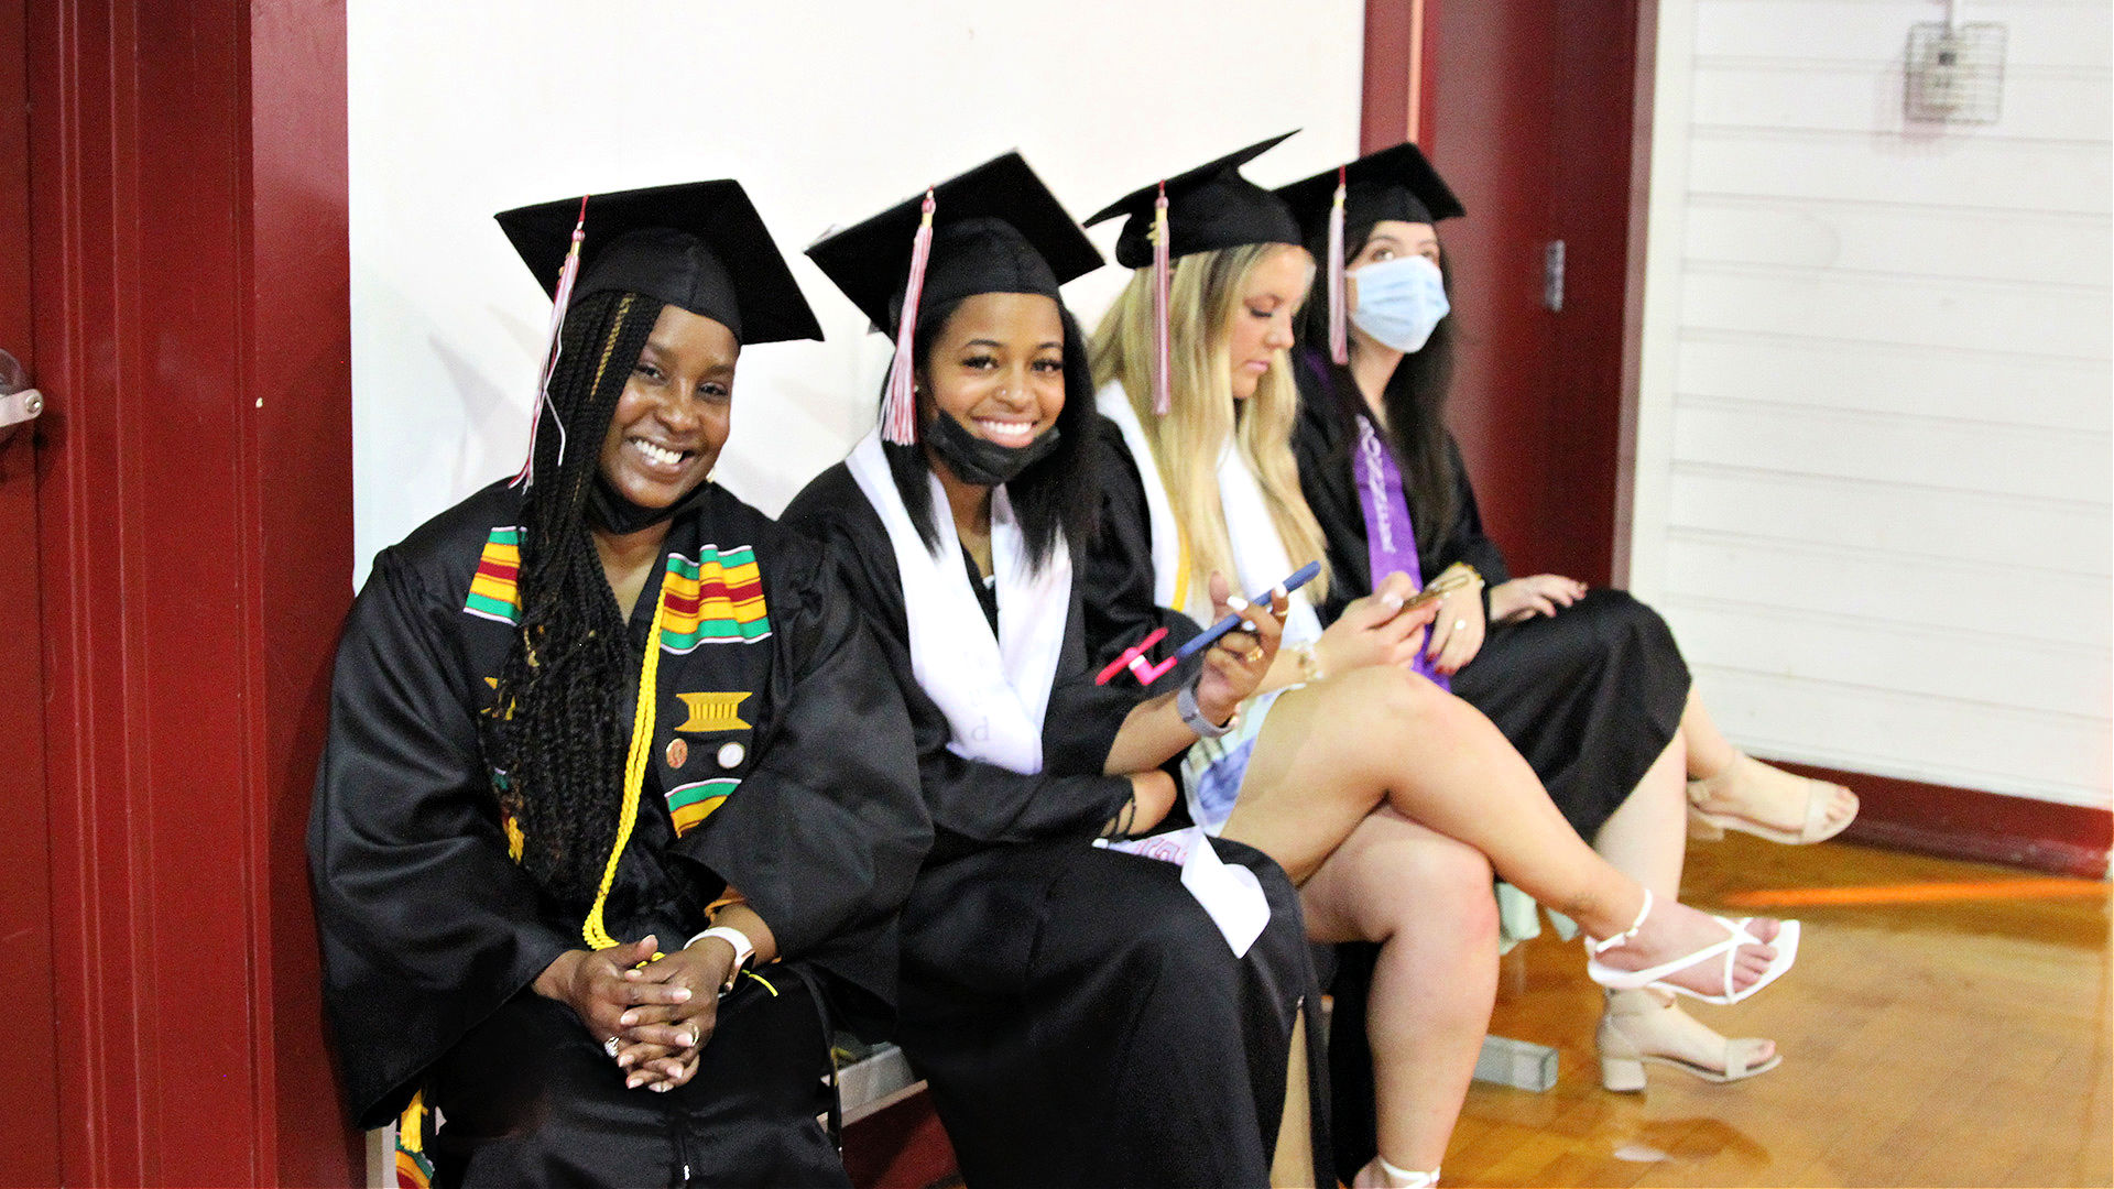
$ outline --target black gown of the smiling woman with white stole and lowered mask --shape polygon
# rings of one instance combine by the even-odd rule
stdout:
[[[1091,846],[1129,798],[1129,779],[1104,776],[1101,764],[1146,696],[1129,675],[1093,685],[1093,673],[1152,626],[1171,637],[1156,656],[1197,626],[1163,618],[1150,586],[1144,605],[1095,614],[1074,580],[1044,770],[1019,774],[947,749],[945,715],[909,677],[894,548],[850,470],[822,472],[786,523],[829,542],[903,675],[937,838],[903,910],[898,1028],[964,1181],[1264,1185],[1302,1005],[1309,1060],[1321,1060],[1292,882],[1260,850],[1216,844],[1271,903],[1271,925],[1235,958],[1175,865]],[[1125,635],[1106,635],[1118,622]],[[1180,679],[1165,675],[1152,692]],[[1317,1153],[1325,1117],[1317,1100]],[[1317,1183],[1334,1183],[1325,1164]]]

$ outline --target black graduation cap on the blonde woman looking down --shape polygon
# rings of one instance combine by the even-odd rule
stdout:
[[[1241,165],[1262,157],[1292,131],[1133,190],[1089,218],[1087,226],[1129,216],[1123,235],[1116,237],[1116,262],[1125,269],[1144,269],[1152,262],[1152,209],[1165,184],[1167,239],[1173,258],[1247,243],[1302,243],[1300,224],[1283,199],[1241,176]]]

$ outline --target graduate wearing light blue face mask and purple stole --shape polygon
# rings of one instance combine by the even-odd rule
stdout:
[[[1296,349],[1294,429],[1300,487],[1336,580],[1323,614],[1334,618],[1376,573],[1406,571],[1416,584],[1473,575],[1444,599],[1421,666],[1505,732],[1581,838],[1672,895],[1685,848],[1683,781],[1710,774],[1689,755],[1708,715],[1689,713],[1687,664],[1651,607],[1562,575],[1512,578],[1482,531],[1444,423],[1454,319],[1435,224],[1463,214],[1459,199],[1414,144],[1279,195],[1323,262]],[[1342,271],[1328,267],[1332,258]],[[1355,283],[1355,300],[1334,292],[1334,277]],[[1799,798],[1803,817],[1805,789]],[[1829,834],[1841,825],[1848,817]],[[1710,1079],[1778,1062],[1767,1041],[1727,1041],[1645,990],[1609,992],[1600,1047],[1611,1090],[1643,1087],[1640,1056]]]

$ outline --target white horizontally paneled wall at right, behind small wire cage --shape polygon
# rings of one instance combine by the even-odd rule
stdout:
[[[2110,804],[2114,4],[1662,0],[1630,582],[1753,751]]]

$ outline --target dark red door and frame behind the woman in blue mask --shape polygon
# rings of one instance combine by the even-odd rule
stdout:
[[[1653,0],[1368,0],[1361,142],[1418,140],[1469,216],[1452,427],[1520,573],[1613,578],[1636,398]],[[1562,311],[1543,254],[1564,241]]]

